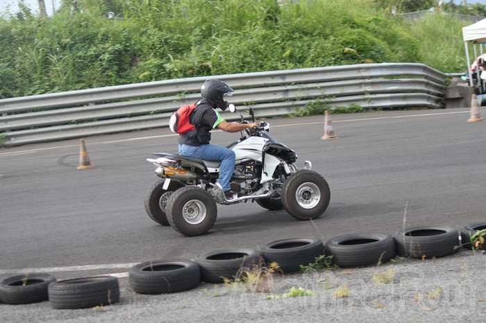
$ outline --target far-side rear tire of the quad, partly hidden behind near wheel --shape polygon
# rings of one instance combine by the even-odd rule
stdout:
[[[144,207],[147,215],[154,220],[155,222],[163,225],[164,227],[169,226],[169,221],[167,221],[167,216],[165,215],[165,211],[160,209],[160,197],[162,194],[167,193],[169,191],[176,191],[184,186],[184,184],[180,182],[176,182],[171,180],[169,187],[167,187],[167,191],[163,189],[165,180],[160,180],[153,184],[150,189],[148,189],[145,193],[144,198]]]

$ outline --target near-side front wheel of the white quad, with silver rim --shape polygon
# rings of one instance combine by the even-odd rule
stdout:
[[[328,183],[314,171],[298,171],[283,184],[283,207],[297,220],[319,218],[326,211],[329,200]]]

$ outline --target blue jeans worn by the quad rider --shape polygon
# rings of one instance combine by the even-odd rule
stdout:
[[[194,157],[210,161],[221,161],[218,183],[224,191],[230,189],[230,180],[235,168],[235,152],[216,145],[188,146],[179,145],[179,153],[183,156]]]

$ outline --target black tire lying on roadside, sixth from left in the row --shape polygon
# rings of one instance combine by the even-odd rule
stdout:
[[[326,254],[339,267],[376,265],[396,256],[395,241],[386,234],[346,234],[328,240]]]

